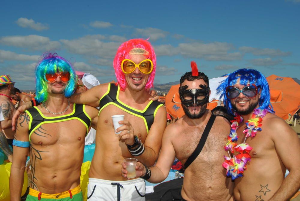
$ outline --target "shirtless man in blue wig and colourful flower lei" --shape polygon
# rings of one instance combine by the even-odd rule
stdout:
[[[289,200],[300,188],[300,142],[269,107],[265,76],[254,69],[239,69],[228,75],[218,91],[228,112],[236,115],[225,146],[232,159],[226,154],[223,163],[227,175],[235,179],[235,200]],[[286,169],[289,175],[284,178]]]

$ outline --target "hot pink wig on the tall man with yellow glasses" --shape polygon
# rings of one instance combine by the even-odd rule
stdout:
[[[126,81],[125,81],[125,75],[121,69],[121,63],[124,59],[130,59],[129,56],[132,52],[139,52],[139,51],[140,54],[143,54],[147,57],[146,59],[151,59],[153,62],[153,71],[149,75],[145,88],[148,89],[153,87],[153,81],[154,81],[155,69],[156,69],[156,56],[155,56],[154,49],[152,45],[148,42],[148,40],[131,39],[121,44],[121,46],[117,50],[115,59],[113,60],[113,67],[115,69],[116,78],[117,78],[116,85],[119,84],[122,90],[125,90],[126,88]]]

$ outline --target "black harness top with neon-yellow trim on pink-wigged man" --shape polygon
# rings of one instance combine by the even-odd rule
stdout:
[[[148,133],[154,122],[154,117],[156,112],[158,111],[158,108],[163,106],[163,104],[161,104],[158,101],[150,101],[143,110],[138,110],[120,101],[119,92],[120,92],[119,85],[116,86],[115,84],[111,84],[111,83],[108,84],[107,92],[104,93],[104,95],[101,97],[99,101],[99,105],[100,105],[99,114],[101,110],[103,110],[107,105],[115,105],[116,107],[120,108],[125,112],[128,112],[129,114],[142,118],[144,120],[147,133]]]

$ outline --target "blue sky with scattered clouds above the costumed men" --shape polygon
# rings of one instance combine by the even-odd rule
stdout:
[[[19,89],[34,88],[49,50],[100,83],[116,80],[114,55],[131,38],[150,38],[158,84],[192,60],[209,78],[253,68],[300,79],[300,0],[2,1],[0,17],[0,74]]]

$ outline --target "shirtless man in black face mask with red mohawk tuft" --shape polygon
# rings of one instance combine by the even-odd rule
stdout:
[[[151,183],[159,183],[167,178],[177,157],[186,168],[182,200],[233,200],[232,181],[226,178],[226,171],[220,166],[223,154],[226,154],[223,144],[232,117],[221,106],[213,111],[206,109],[210,95],[208,77],[197,69],[181,77],[179,95],[185,115],[165,129],[156,165],[146,168],[138,162],[136,175]],[[197,147],[198,143],[203,149]],[[196,148],[202,149],[200,154],[196,154]],[[127,177],[126,165],[122,163],[122,166],[122,174]]]

